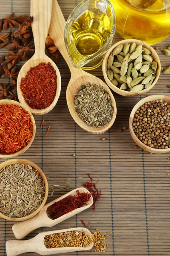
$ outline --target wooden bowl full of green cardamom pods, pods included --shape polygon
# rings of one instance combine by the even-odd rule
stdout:
[[[161,63],[156,51],[140,40],[114,44],[105,54],[103,76],[108,86],[122,96],[147,93],[159,79]]]

